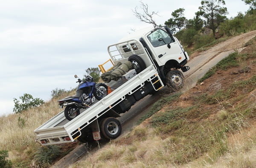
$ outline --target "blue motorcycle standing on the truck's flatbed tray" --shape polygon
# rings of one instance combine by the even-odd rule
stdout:
[[[64,114],[67,120],[72,120],[80,114],[81,108],[89,108],[95,101],[101,100],[103,97],[108,95],[108,86],[104,83],[98,83],[96,85],[93,82],[93,77],[88,74],[84,74],[84,78],[81,80],[78,78],[76,83],[79,85],[76,88],[76,94],[73,96],[65,97],[64,99],[58,100],[61,108],[65,106]]]

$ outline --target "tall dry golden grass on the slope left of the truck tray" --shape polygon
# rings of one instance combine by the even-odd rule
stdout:
[[[9,151],[12,162],[32,162],[33,153],[41,146],[35,142],[34,130],[61,111],[57,100],[65,96],[67,93],[21,114],[0,117],[0,149]]]

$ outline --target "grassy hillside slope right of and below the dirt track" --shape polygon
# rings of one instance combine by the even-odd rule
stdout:
[[[203,83],[155,103],[130,134],[72,167],[256,165],[256,38],[210,69]]]

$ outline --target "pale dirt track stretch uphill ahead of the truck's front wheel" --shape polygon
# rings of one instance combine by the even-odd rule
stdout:
[[[184,73],[186,86],[183,88],[183,91],[194,87],[197,80],[203,77],[212,66],[216,65],[224,57],[227,57],[234,51],[242,51],[244,44],[255,36],[256,31],[250,31],[218,43],[212,48],[196,55],[192,54],[192,59],[188,63],[190,70]]]

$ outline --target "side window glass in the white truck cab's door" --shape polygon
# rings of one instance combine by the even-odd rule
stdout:
[[[154,47],[163,46],[165,44],[173,43],[172,38],[170,35],[163,31],[162,29],[158,28],[157,30],[153,31],[148,36],[148,40]]]

